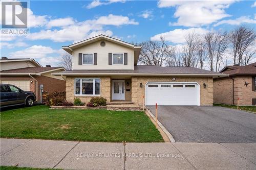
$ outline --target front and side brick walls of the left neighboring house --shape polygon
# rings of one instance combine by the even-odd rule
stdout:
[[[37,87],[37,102],[40,102],[40,89],[39,85],[44,84],[44,91],[52,93],[54,91],[65,91],[66,82],[46,76],[33,76],[38,82]],[[1,76],[1,80],[30,80],[30,91],[36,91],[35,80],[29,76]]]

